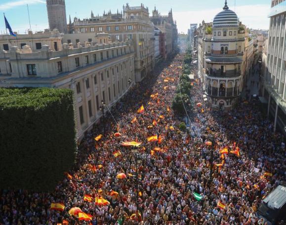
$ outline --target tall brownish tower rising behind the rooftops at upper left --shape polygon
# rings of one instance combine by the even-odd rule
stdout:
[[[65,0],[46,0],[50,30],[58,29],[60,33],[67,33],[67,16]]]

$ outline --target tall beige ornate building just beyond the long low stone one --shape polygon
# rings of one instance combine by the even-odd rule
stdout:
[[[94,16],[88,20],[75,18],[73,29],[75,33],[109,34],[112,41],[132,39],[135,52],[135,81],[140,82],[150,74],[155,66],[154,56],[154,24],[149,19],[148,7],[123,6],[123,13],[104,13],[103,16]]]

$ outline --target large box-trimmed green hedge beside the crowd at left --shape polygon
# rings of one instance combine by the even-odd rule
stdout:
[[[75,162],[73,92],[0,88],[0,188],[52,190]]]

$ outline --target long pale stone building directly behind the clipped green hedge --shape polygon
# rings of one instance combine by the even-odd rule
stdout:
[[[107,39],[108,37],[106,37]],[[101,100],[111,108],[134,81],[132,41],[108,44],[48,45],[33,52],[12,46],[0,52],[0,87],[56,87],[74,90],[77,135],[92,128],[102,115]],[[132,84],[131,84],[132,85]]]

